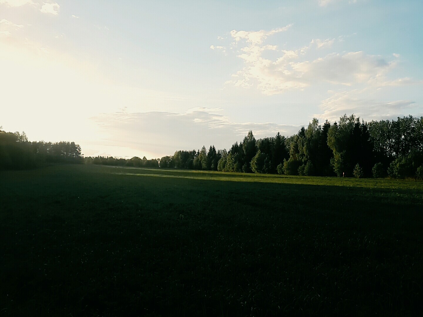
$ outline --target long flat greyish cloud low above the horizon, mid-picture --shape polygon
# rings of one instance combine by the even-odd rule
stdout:
[[[104,131],[104,145],[149,151],[156,153],[156,156],[170,155],[176,150],[198,149],[203,145],[228,149],[249,130],[253,130],[254,136],[260,138],[274,136],[278,131],[291,135],[299,128],[277,123],[235,123],[220,114],[221,111],[218,108],[196,107],[184,113],[115,112],[91,119]]]

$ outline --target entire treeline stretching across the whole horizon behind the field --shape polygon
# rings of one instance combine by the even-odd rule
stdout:
[[[423,117],[365,122],[344,115],[323,125],[313,118],[297,134],[256,140],[253,132],[229,150],[178,150],[160,159],[87,157],[86,164],[202,169],[305,176],[423,178]],[[29,142],[25,133],[0,130],[0,169],[82,163],[74,142]]]

